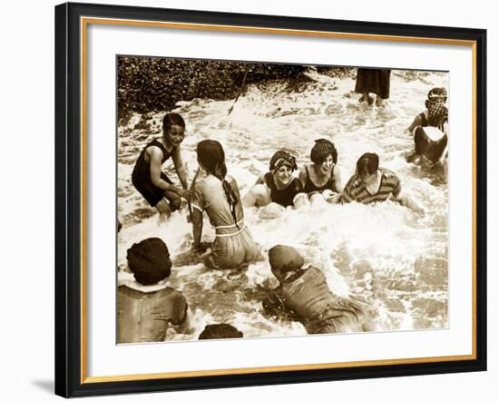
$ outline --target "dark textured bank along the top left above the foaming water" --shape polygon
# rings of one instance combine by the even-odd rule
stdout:
[[[240,63],[210,60],[118,57],[118,119],[127,122],[133,112],[168,112],[180,101],[195,98],[230,100],[246,84],[286,82],[286,90],[300,92],[312,82],[310,68],[332,77],[355,78],[355,68],[309,67],[293,64]]]

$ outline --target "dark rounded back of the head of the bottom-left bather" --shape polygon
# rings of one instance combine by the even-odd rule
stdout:
[[[170,276],[170,253],[159,238],[148,238],[133,244],[127,250],[126,259],[135,279],[145,286]]]

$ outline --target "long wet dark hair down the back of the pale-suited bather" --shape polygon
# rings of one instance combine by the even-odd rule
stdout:
[[[236,205],[240,199],[230,185],[230,182],[225,180],[227,166],[225,165],[225,152],[223,152],[220,142],[212,141],[210,139],[201,141],[198,143],[196,152],[198,153],[198,161],[202,166],[221,181],[223,191],[225,192],[225,196],[230,205],[232,218],[239,230],[238,219],[236,217]]]

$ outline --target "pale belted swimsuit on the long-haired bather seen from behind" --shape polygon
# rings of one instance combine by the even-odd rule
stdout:
[[[236,180],[227,177],[232,190],[240,200],[240,191]],[[216,239],[211,247],[211,253],[204,260],[212,269],[234,269],[259,259],[259,245],[253,240],[244,222],[242,204],[235,206],[236,221],[230,212],[230,204],[223,191],[221,181],[209,175],[196,182],[192,194],[192,207],[206,211],[210,224],[215,229]]]

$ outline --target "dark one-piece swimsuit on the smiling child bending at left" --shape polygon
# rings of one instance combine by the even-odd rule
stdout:
[[[161,152],[163,153],[161,164],[170,159],[171,153],[174,152],[175,148],[173,148],[171,152],[168,152],[163,144],[155,139],[145,146],[139,159],[135,162],[135,167],[132,172],[132,184],[137,191],[141,192],[144,199],[154,207],[163,199],[164,191],[161,190],[161,188],[156,187],[151,181],[151,164],[145,160],[145,151],[151,146],[157,146],[161,149]],[[161,180],[166,181],[169,184],[173,183],[162,171]]]

